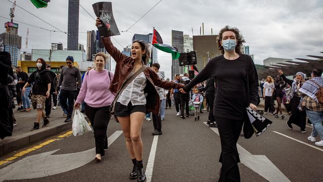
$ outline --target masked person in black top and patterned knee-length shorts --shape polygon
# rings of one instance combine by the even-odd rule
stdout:
[[[42,127],[49,125],[49,120],[45,116],[44,107],[46,98],[50,96],[51,76],[49,71],[46,70],[46,62],[44,59],[38,58],[36,66],[37,70],[32,72],[27,83],[22,88],[22,92],[24,92],[31,83],[34,83],[32,86],[31,104],[34,109],[37,109],[37,120],[34,122],[34,127],[31,131],[39,129],[41,117],[44,120]]]

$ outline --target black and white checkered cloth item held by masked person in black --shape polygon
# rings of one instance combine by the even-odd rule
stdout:
[[[272,121],[260,115],[251,107],[246,108],[248,119],[252,125],[253,131],[256,136],[261,135],[271,125]]]

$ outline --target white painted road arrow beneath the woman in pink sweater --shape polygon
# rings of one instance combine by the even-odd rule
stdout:
[[[114,132],[108,138],[110,146],[122,131]],[[93,160],[95,148],[87,151],[51,155],[58,150],[28,156],[0,170],[0,182],[47,177],[80,168]]]

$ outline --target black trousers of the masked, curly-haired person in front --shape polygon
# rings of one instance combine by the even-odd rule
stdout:
[[[221,155],[219,162],[222,163],[219,182],[240,182],[238,163],[240,162],[237,142],[242,129],[243,120],[234,120],[223,117],[215,117],[218,124]]]

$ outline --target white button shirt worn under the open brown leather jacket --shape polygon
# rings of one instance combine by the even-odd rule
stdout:
[[[132,72],[129,77],[131,77],[134,73]],[[145,105],[146,104],[146,96],[144,93],[144,89],[147,84],[147,78],[144,72],[141,72],[129,85],[126,87],[124,91],[120,94],[118,98],[118,102],[122,105],[128,105],[131,101],[132,105]]]

